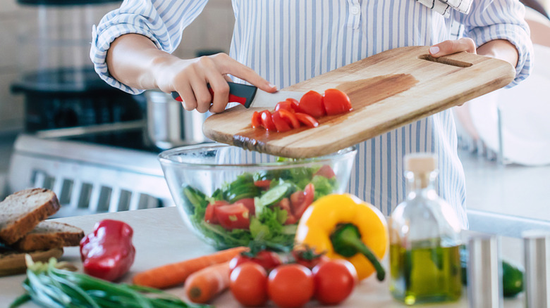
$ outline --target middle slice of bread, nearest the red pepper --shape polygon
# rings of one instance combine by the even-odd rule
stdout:
[[[32,229],[11,247],[22,251],[32,251],[78,246],[83,237],[84,231],[80,228],[46,220],[40,222],[35,229]]]

